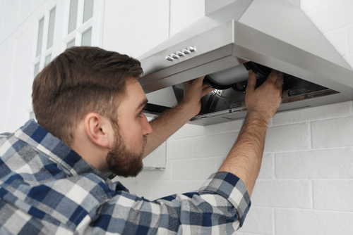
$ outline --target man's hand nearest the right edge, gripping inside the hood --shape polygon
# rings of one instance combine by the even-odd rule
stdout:
[[[248,113],[257,113],[267,123],[275,115],[282,100],[283,73],[272,70],[268,79],[256,87],[256,75],[249,71],[248,87],[246,87],[245,104]]]

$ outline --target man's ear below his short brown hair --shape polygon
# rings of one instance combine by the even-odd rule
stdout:
[[[93,143],[107,148],[112,136],[112,125],[98,113],[88,113],[84,119],[85,134]]]

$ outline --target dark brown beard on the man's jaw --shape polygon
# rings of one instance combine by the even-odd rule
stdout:
[[[119,130],[116,130],[114,147],[107,154],[109,170],[120,177],[136,177],[143,169],[142,157],[146,143],[147,136],[143,136],[143,148],[140,151],[128,150]]]

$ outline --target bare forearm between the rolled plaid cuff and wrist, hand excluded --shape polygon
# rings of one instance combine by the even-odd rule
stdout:
[[[249,195],[261,167],[267,126],[268,121],[261,115],[256,112],[248,113],[237,141],[219,170],[231,172],[242,179]]]

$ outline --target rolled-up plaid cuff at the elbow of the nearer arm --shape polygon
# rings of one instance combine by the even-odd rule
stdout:
[[[235,174],[215,172],[201,186],[200,191],[213,191],[225,197],[237,209],[240,227],[243,226],[251,201],[244,182]]]

